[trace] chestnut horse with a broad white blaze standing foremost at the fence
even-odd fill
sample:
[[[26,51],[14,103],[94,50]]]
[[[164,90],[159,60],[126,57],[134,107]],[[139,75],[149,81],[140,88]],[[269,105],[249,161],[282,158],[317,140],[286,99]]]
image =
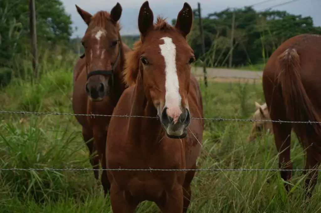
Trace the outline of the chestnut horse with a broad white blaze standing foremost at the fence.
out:
[[[112,117],[108,128],[108,169],[176,169],[178,171],[109,170],[114,213],[134,213],[141,201],[155,202],[162,212],[186,212],[190,184],[200,154],[204,118],[200,86],[191,74],[195,61],[186,36],[193,11],[185,3],[175,27],[157,18],[148,1],[140,8],[141,40],[126,56],[128,84],[114,115],[155,116],[159,119]]]

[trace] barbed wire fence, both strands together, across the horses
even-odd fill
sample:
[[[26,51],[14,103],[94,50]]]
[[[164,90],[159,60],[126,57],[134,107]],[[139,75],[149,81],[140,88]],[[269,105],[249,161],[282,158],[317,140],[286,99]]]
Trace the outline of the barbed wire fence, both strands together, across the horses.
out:
[[[103,117],[136,117],[136,118],[150,118],[150,119],[158,119],[158,117],[152,116],[140,116],[140,115],[105,115],[105,114],[73,114],[73,113],[58,113],[58,112],[25,112],[25,111],[0,111],[0,113],[4,114],[36,114],[36,115],[71,115],[71,116],[91,116],[92,118],[96,116],[103,116]],[[233,119],[233,118],[191,118],[192,120],[216,120],[216,121],[243,121],[243,122],[278,122],[278,123],[305,123],[305,124],[313,124],[313,123],[321,123],[321,122],[313,122],[313,121],[273,121],[273,120],[254,120],[254,119]],[[74,168],[64,168],[64,169],[55,169],[55,168],[0,168],[0,171],[321,171],[321,169],[211,169],[211,168],[204,168],[204,169],[90,169],[90,168],[83,168],[83,169],[74,169]]]

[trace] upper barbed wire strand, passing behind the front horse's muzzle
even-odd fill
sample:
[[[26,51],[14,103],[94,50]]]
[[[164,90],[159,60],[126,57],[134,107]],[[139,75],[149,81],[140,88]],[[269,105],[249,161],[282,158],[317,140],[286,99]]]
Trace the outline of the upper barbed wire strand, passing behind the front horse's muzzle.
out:
[[[158,117],[152,116],[141,116],[141,115],[106,115],[106,114],[72,114],[72,113],[54,113],[54,112],[14,112],[14,111],[0,111],[0,113],[9,113],[9,114],[51,114],[51,115],[73,115],[73,116],[91,116],[95,118],[95,116],[103,116],[103,117],[134,117],[134,118],[152,118],[158,119]],[[238,118],[191,118],[192,120],[216,120],[216,121],[247,121],[247,122],[277,122],[277,123],[321,123],[318,121],[273,121],[273,120],[255,120],[255,119],[238,119]]]

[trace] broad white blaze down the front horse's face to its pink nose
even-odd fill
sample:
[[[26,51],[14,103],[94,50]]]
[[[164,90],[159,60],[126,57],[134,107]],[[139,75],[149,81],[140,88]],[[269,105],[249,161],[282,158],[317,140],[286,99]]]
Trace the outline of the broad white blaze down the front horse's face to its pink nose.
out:
[[[165,60],[165,106],[167,107],[168,116],[173,118],[176,123],[179,115],[182,114],[180,109],[182,98],[179,94],[176,69],[176,46],[169,37],[163,37],[161,39],[164,40],[164,43],[159,46],[160,53]]]

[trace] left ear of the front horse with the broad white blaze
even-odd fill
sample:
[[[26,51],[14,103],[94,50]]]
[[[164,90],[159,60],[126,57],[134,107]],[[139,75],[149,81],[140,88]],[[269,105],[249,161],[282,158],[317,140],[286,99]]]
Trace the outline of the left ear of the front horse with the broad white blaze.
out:
[[[142,39],[146,36],[149,29],[153,27],[154,14],[149,7],[148,1],[145,1],[139,10],[138,15],[138,29],[141,33]]]

